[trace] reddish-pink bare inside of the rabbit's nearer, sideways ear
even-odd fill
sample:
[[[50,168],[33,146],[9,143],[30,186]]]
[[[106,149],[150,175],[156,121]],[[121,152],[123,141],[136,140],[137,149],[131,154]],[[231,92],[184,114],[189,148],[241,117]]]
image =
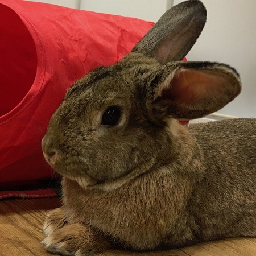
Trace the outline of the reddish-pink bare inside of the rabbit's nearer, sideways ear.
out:
[[[179,104],[196,105],[202,100],[223,95],[225,85],[229,83],[227,80],[217,71],[183,69],[175,73],[161,96]]]

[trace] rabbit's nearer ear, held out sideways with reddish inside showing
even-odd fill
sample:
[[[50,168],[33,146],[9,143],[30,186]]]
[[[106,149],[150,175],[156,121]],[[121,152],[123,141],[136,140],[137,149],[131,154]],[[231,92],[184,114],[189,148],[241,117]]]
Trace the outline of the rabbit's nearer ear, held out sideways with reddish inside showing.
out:
[[[146,89],[152,121],[195,119],[216,112],[241,92],[238,73],[225,64],[169,63]]]

